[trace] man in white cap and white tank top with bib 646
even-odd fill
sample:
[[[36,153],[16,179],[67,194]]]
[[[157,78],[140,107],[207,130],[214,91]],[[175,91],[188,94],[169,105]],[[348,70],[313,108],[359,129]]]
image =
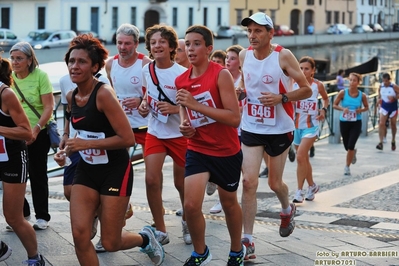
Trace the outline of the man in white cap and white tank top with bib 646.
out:
[[[256,190],[263,152],[269,156],[269,186],[281,202],[280,236],[289,236],[295,227],[295,205],[290,204],[283,170],[294,130],[291,101],[305,99],[312,91],[291,51],[272,44],[273,22],[265,13],[255,13],[242,20],[248,28],[250,47],[240,52],[243,71],[241,89],[247,91],[243,107],[241,142],[244,155],[242,211],[247,247],[246,259],[254,259],[253,224],[257,212]],[[292,91],[293,81],[299,89]]]

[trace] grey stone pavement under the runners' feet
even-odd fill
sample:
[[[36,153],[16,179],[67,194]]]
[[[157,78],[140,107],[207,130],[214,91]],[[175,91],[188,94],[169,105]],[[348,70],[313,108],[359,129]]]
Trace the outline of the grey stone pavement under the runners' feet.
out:
[[[278,233],[278,201],[267,185],[267,178],[260,178],[254,232],[257,259],[245,265],[399,265],[399,151],[391,151],[390,145],[378,151],[377,143],[376,133],[359,139],[358,160],[351,166],[350,177],[343,175],[346,153],[342,144],[328,144],[327,140],[315,144],[316,155],[311,158],[311,163],[320,191],[313,202],[297,204],[296,228],[287,238],[281,238]],[[134,169],[131,197],[134,216],[127,221],[125,229],[138,232],[152,222],[152,217],[145,194],[144,165]],[[284,180],[291,199],[296,190],[295,171],[296,162],[287,160]],[[47,265],[79,265],[73,248],[69,203],[63,197],[62,177],[52,177],[49,183],[52,219],[47,230],[37,231],[40,252]],[[27,194],[31,202],[29,191]],[[171,242],[164,246],[166,257],[162,265],[183,265],[192,246],[184,244],[181,218],[175,215],[180,203],[173,186],[170,159],[164,167],[163,199]],[[223,212],[209,214],[217,200],[217,193],[206,196],[203,212],[207,225],[206,241],[213,255],[209,265],[221,266],[226,265],[229,238]],[[25,251],[16,235],[5,231],[5,226],[1,215],[0,239],[12,247],[13,254],[0,265],[21,265]],[[138,248],[98,256],[102,266],[152,265]]]

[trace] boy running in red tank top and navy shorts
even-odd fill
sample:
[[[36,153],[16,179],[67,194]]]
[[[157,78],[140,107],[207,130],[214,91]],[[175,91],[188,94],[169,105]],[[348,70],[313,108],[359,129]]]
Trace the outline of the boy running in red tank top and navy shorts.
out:
[[[242,152],[237,136],[240,110],[229,71],[209,60],[213,34],[207,27],[186,30],[186,51],[192,67],[176,78],[180,106],[180,132],[188,138],[184,213],[194,251],[184,265],[206,265],[212,255],[205,243],[202,213],[205,187],[219,187],[219,198],[230,236],[227,265],[243,265],[245,246],[240,241],[242,212],[237,200]],[[217,132],[217,134],[215,134]]]

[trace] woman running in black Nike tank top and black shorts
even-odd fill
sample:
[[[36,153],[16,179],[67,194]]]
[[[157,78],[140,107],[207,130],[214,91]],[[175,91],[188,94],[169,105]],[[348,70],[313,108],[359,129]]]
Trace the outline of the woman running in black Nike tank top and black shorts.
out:
[[[98,266],[91,242],[92,224],[99,213],[101,242],[107,251],[141,247],[155,265],[165,257],[152,230],[122,231],[132,193],[133,169],[128,147],[135,144],[130,123],[114,89],[94,75],[105,65],[108,51],[93,36],[75,37],[65,55],[69,75],[77,88],[67,94],[72,127],[78,132],[54,156],[64,165],[79,151],[81,160],[71,189],[70,213],[75,251],[80,265]]]

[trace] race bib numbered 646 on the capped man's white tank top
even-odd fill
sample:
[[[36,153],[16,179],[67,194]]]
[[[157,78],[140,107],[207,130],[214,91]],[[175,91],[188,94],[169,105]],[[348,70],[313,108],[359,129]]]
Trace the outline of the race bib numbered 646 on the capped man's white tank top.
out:
[[[276,124],[276,107],[248,101],[248,122],[260,125],[274,126]]]

